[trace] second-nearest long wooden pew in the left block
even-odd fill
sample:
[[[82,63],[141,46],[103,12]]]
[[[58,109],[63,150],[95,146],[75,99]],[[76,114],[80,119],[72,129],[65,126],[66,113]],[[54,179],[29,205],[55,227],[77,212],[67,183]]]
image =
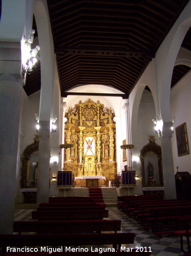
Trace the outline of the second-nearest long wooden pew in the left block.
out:
[[[91,233],[121,231],[121,220],[14,221],[13,232]]]

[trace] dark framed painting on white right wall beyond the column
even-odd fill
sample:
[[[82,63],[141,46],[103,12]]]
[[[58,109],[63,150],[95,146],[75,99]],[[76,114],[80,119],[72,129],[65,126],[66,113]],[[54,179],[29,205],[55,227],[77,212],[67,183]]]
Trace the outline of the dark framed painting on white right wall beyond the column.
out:
[[[176,142],[177,142],[177,150],[178,156],[188,155],[188,137],[186,133],[186,123],[181,124],[175,128],[176,130]]]

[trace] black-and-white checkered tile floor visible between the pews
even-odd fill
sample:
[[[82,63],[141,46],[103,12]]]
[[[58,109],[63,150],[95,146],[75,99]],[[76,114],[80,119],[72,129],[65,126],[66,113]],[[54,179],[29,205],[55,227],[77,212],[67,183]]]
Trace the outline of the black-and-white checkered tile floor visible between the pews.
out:
[[[153,236],[152,232],[143,230],[135,220],[128,218],[125,213],[118,211],[117,206],[108,207],[107,209],[109,210],[108,219],[121,220],[121,232],[133,232],[136,234],[134,244],[123,245],[126,248],[151,247],[151,256],[183,256],[184,253],[180,251],[180,238]],[[15,213],[15,220],[31,220],[32,210],[23,209],[18,211]],[[187,250],[186,238],[184,237],[183,239],[184,249]]]

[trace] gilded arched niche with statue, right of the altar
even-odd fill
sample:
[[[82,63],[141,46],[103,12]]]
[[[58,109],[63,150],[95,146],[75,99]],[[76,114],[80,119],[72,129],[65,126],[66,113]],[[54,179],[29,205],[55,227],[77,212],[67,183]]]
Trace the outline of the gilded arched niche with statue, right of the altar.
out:
[[[149,143],[140,152],[142,187],[163,187],[161,147],[150,136]]]

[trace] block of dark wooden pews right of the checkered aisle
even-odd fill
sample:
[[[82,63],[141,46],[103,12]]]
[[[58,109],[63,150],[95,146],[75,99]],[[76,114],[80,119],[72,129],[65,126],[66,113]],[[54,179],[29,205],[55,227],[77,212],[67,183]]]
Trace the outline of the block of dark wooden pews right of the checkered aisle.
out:
[[[181,251],[184,251],[183,236],[186,236],[188,252],[191,251],[190,201],[165,200],[158,196],[119,196],[118,210],[137,220],[145,230],[151,229],[154,235],[180,236]]]

